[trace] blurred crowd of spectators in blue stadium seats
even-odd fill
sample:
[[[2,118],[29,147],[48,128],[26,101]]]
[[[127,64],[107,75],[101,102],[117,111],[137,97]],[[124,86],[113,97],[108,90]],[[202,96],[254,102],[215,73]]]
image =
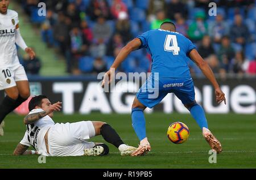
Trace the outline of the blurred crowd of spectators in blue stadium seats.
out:
[[[214,73],[256,74],[256,1],[254,0],[45,0],[47,15],[38,16],[39,0],[19,0],[42,40],[64,55],[67,72],[108,70],[127,42],[164,21],[192,40]],[[208,6],[216,2],[217,15]],[[212,12],[210,10],[210,12]],[[150,71],[146,50],[131,53],[120,70]],[[189,63],[192,75],[202,75]]]

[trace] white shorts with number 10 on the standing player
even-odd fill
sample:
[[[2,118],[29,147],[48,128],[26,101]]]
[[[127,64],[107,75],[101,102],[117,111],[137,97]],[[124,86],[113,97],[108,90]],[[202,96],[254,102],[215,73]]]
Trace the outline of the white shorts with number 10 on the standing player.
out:
[[[14,87],[21,80],[28,80],[22,65],[0,67],[0,90]]]

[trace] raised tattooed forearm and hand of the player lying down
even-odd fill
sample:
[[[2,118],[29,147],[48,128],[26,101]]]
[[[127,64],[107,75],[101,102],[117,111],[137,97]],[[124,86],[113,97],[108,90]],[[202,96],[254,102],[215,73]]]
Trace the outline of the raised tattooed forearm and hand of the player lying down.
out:
[[[32,123],[38,121],[39,119],[45,117],[48,114],[51,114],[55,111],[59,112],[61,109],[61,104],[62,104],[62,102],[56,102],[55,104],[49,105],[49,108],[47,108],[43,112],[32,113],[32,114],[26,115],[26,117],[24,117],[24,119],[23,119],[24,124],[25,125],[32,124]]]

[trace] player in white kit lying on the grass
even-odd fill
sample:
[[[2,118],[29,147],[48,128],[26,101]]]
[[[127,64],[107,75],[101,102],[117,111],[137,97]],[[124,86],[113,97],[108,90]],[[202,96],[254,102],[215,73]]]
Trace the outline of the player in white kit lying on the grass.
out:
[[[137,148],[123,143],[115,130],[105,122],[80,121],[76,123],[53,122],[53,112],[61,109],[61,102],[51,104],[46,96],[32,97],[28,104],[30,113],[24,118],[27,130],[14,155],[39,153],[44,156],[102,156],[109,153],[103,143],[86,142],[97,135],[117,147],[122,156],[131,155]],[[35,151],[27,151],[33,146]]]

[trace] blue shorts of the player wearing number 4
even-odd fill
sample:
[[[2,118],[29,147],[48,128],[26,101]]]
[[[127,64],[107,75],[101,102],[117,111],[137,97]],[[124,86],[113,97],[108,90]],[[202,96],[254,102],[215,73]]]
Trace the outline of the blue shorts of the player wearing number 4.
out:
[[[191,104],[195,101],[192,78],[152,78],[150,76],[139,89],[136,97],[144,106],[153,108],[168,93],[174,93],[184,105]]]

